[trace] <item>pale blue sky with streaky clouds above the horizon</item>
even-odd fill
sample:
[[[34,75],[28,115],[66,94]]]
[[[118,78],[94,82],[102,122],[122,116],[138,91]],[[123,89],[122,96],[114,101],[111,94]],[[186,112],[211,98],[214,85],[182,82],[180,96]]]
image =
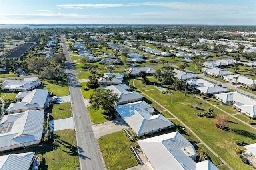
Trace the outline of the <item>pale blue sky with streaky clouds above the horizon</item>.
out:
[[[256,0],[0,0],[0,24],[256,25]]]

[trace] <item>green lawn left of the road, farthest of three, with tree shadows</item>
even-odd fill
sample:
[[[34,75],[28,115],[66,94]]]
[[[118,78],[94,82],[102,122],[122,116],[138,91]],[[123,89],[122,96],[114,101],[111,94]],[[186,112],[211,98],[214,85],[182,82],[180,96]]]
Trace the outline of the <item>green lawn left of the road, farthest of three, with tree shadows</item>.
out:
[[[69,95],[68,80],[66,76],[62,76],[63,80],[43,80],[44,85],[41,85],[39,89],[49,89],[49,92],[54,93],[56,96]]]

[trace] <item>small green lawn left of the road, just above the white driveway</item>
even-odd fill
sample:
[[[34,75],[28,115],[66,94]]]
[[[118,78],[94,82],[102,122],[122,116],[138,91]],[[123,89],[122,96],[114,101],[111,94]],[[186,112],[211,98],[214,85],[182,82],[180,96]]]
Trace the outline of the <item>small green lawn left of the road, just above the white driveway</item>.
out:
[[[71,103],[58,103],[52,104],[49,108],[45,109],[45,112],[50,113],[51,120],[64,119],[71,116]]]

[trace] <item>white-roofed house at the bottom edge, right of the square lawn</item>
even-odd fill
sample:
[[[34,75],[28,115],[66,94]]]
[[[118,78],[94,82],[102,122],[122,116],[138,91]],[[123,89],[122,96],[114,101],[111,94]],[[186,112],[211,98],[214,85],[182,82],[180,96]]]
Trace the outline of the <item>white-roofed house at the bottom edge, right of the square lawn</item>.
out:
[[[218,170],[204,160],[196,163],[196,150],[179,132],[137,141],[155,170]]]

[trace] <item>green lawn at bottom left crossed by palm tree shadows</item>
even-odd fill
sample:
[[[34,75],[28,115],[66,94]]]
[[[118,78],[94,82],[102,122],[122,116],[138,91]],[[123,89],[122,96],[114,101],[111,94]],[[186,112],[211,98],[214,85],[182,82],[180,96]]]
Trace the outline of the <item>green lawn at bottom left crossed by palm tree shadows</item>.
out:
[[[54,131],[53,134],[55,136],[53,142],[26,150],[12,151],[10,154],[36,152],[35,154],[43,156],[43,158],[39,156],[42,170],[75,170],[79,160],[74,130],[59,130]]]

